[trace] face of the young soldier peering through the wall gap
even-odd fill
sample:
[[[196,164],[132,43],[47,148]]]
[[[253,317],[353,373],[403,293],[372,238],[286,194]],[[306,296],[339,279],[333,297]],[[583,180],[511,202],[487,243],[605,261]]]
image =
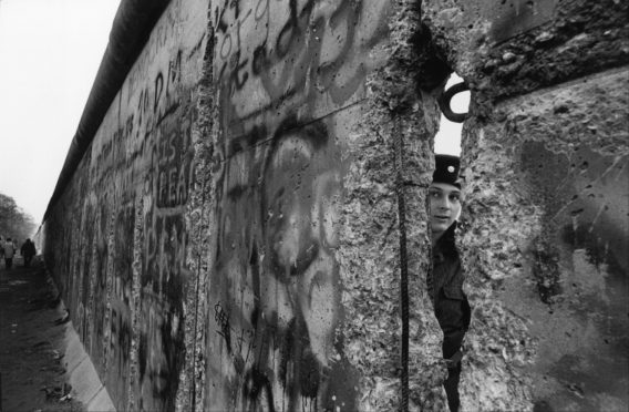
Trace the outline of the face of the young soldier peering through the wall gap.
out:
[[[429,198],[432,234],[439,237],[461,214],[461,189],[447,183],[433,183]]]

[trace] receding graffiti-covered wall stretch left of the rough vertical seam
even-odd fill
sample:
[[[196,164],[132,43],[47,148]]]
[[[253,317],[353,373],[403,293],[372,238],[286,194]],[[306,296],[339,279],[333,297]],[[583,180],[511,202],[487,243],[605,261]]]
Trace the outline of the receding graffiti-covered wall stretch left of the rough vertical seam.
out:
[[[117,410],[190,402],[185,215],[207,8],[171,2],[45,222],[47,264]]]

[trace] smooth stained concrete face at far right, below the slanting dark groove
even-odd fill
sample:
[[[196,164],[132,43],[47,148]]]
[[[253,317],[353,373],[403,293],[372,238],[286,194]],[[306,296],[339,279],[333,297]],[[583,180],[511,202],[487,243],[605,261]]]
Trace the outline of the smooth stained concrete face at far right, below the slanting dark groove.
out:
[[[606,72],[499,106],[520,189],[544,205],[504,301],[532,321],[534,400],[553,409],[629,405],[628,86]]]

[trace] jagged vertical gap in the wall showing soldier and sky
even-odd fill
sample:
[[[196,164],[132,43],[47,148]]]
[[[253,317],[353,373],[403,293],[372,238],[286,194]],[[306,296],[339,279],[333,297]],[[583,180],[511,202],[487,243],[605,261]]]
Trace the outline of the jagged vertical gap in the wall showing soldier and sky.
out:
[[[446,82],[445,91],[462,83],[455,73]],[[455,89],[454,89],[455,90]],[[454,92],[454,90],[452,92]],[[443,101],[442,101],[443,102]],[[467,113],[470,92],[454,94],[450,111],[454,114]],[[448,112],[447,105],[442,110]],[[448,114],[451,119],[464,116]],[[435,174],[429,188],[429,227],[433,246],[431,275],[427,289],[434,313],[443,331],[443,358],[448,360],[448,375],[444,383],[450,410],[458,410],[458,381],[461,374],[462,342],[470,327],[471,307],[463,292],[465,278],[456,247],[456,222],[463,208],[461,197],[460,163],[462,124],[441,115],[440,130],[434,137]]]

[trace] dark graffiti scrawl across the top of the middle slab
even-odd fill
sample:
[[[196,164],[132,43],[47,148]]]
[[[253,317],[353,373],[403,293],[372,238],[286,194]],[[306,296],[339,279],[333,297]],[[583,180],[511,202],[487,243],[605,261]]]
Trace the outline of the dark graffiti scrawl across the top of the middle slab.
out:
[[[385,37],[386,2],[228,1],[214,10],[224,124],[347,104]],[[324,113],[322,113],[324,114]]]

